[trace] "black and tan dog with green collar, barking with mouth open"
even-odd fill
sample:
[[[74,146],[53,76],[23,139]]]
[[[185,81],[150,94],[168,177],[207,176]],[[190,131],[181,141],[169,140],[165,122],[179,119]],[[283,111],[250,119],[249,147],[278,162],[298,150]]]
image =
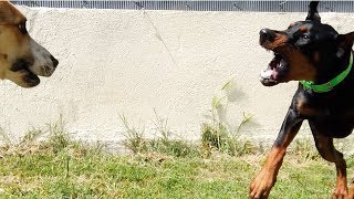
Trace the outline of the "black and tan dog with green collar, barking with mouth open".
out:
[[[339,34],[321,23],[317,4],[311,2],[306,20],[292,23],[284,31],[260,31],[260,44],[274,52],[274,59],[261,73],[262,84],[300,83],[264,166],[250,186],[250,198],[268,198],[287,147],[305,119],[319,153],[336,166],[332,197],[354,198],[353,185],[347,188],[343,154],[333,146],[333,138],[346,137],[354,127],[354,32]]]

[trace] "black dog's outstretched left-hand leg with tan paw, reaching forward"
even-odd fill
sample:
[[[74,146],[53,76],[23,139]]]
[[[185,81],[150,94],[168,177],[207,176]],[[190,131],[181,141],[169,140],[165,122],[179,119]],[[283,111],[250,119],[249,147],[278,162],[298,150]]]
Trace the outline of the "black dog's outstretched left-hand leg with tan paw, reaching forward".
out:
[[[262,170],[251,184],[249,198],[268,198],[277,180],[277,175],[285,156],[287,147],[295,137],[302,122],[303,119],[290,107]]]

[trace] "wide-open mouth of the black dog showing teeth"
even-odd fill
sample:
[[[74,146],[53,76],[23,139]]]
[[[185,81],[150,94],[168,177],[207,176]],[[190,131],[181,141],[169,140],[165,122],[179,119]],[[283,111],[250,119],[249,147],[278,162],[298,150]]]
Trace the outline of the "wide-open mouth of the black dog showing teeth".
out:
[[[261,72],[260,81],[264,86],[273,86],[283,82],[288,72],[288,61],[282,54],[274,52],[273,60],[269,63],[267,70]]]

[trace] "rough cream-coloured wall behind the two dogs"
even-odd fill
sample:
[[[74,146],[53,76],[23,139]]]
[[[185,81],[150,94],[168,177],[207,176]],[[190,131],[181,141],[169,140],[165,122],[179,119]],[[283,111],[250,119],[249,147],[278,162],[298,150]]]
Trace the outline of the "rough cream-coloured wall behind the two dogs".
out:
[[[212,97],[227,95],[222,119],[237,126],[250,113],[242,134],[273,139],[296,87],[260,84],[272,54],[259,46],[258,32],[285,29],[305,13],[20,10],[32,38],[60,65],[35,88],[0,83],[0,124],[14,137],[60,114],[76,138],[122,139],[119,114],[154,134],[155,109],[175,135],[195,139]],[[322,20],[341,33],[353,31],[353,14],[323,13]],[[235,86],[221,92],[229,81]]]

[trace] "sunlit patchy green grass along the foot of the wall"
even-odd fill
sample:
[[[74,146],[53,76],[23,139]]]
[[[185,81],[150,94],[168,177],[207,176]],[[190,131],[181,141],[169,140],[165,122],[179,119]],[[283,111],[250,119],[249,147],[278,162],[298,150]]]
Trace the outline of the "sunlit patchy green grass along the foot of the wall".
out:
[[[20,144],[0,148],[0,198],[247,198],[264,160],[259,153],[216,149],[204,156],[204,147],[169,136],[142,138],[144,150],[112,155],[71,140],[62,125],[32,129]],[[271,198],[329,198],[334,166],[317,158],[311,143],[294,145]],[[347,163],[353,167],[354,158]]]

